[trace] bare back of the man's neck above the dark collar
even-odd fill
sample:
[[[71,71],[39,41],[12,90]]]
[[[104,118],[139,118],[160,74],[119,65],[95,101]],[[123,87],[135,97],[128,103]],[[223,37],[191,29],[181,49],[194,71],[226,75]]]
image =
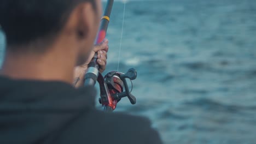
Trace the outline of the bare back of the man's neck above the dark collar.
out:
[[[43,55],[7,52],[1,75],[12,79],[62,81],[72,84],[75,61],[71,59],[74,58],[65,49]]]

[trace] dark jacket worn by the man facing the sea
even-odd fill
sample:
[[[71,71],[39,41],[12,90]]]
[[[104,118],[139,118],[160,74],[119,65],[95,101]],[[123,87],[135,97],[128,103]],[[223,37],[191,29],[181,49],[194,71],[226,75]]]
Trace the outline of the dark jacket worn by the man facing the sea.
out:
[[[95,109],[93,87],[0,77],[0,143],[161,143],[147,118]]]

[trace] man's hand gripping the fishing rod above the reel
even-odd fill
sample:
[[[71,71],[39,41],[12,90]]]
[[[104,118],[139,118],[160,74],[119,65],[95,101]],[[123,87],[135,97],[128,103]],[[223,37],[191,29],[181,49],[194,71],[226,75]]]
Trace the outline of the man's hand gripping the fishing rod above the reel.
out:
[[[74,83],[73,85],[75,87],[82,87],[84,83],[84,75],[86,73],[86,70],[88,69],[88,64],[91,62],[91,59],[94,57],[95,53],[98,53],[98,59],[97,62],[100,66],[100,73],[103,73],[103,71],[106,69],[107,65],[107,52],[108,52],[108,40],[104,39],[102,43],[97,44],[92,49],[92,52],[90,53],[90,56],[88,58],[88,61],[85,62],[85,64],[80,65],[78,67],[75,67],[74,69]]]

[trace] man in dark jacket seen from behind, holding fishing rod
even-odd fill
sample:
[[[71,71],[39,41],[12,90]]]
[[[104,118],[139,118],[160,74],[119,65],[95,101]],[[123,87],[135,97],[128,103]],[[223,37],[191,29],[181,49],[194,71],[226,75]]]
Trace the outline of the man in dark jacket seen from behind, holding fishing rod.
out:
[[[72,86],[95,52],[106,66],[108,41],[92,49],[100,16],[100,0],[0,1],[1,144],[161,143],[148,119],[98,111],[93,87]]]

